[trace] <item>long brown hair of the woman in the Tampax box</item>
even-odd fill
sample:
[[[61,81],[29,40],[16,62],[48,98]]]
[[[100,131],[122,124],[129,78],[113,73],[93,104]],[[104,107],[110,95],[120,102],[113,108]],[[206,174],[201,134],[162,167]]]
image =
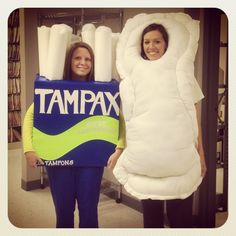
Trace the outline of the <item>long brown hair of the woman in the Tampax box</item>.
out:
[[[89,74],[87,75],[87,79],[86,81],[94,81],[94,54],[93,54],[93,49],[84,42],[78,42],[78,43],[74,43],[69,52],[67,53],[66,56],[66,63],[65,63],[65,73],[64,73],[64,80],[72,80],[72,70],[71,70],[71,60],[72,60],[72,56],[74,51],[77,48],[86,48],[91,56],[91,71],[89,72]]]

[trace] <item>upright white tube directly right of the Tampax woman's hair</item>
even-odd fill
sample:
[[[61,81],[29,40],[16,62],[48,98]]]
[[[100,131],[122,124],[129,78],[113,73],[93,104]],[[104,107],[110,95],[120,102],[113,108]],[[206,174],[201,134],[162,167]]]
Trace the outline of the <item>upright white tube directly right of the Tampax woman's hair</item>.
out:
[[[95,81],[111,81],[112,71],[112,31],[99,26],[95,31]]]

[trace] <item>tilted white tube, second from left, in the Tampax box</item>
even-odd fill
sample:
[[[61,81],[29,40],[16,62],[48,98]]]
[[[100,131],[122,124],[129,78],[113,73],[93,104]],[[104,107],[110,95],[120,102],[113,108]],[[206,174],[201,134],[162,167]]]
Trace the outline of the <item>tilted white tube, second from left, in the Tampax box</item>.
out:
[[[71,41],[72,28],[67,25],[53,25],[50,32],[46,77],[62,80],[66,52]]]

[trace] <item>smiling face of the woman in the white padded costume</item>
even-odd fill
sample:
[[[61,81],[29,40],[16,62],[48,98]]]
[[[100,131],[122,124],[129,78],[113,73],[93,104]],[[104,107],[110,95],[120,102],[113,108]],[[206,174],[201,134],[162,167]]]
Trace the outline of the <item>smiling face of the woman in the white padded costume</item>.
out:
[[[160,59],[166,51],[166,42],[159,30],[147,32],[143,37],[143,50],[151,61]]]

